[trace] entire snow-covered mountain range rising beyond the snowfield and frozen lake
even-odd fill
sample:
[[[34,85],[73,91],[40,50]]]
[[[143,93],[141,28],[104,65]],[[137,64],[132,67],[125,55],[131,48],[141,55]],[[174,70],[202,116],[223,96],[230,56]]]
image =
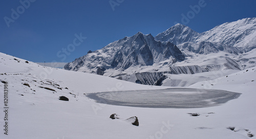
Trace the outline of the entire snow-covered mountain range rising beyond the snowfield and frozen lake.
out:
[[[255,66],[255,38],[256,18],[225,23],[203,33],[177,24],[156,37],[141,32],[124,37],[75,59],[65,69],[156,85],[159,79],[169,79],[162,77],[165,74]]]

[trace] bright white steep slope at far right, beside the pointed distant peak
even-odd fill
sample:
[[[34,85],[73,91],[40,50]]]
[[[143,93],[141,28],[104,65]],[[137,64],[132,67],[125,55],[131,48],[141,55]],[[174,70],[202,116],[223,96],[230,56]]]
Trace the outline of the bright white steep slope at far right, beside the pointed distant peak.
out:
[[[220,42],[232,47],[242,48],[248,52],[256,48],[256,18],[244,18],[226,22],[200,34],[196,42]]]

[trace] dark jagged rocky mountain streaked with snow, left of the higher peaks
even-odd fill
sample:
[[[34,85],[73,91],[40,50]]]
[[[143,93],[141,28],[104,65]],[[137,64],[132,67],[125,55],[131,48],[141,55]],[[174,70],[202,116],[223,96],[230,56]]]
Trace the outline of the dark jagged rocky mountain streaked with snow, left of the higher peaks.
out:
[[[130,67],[152,66],[162,61],[172,64],[183,60],[185,56],[173,43],[156,41],[151,34],[139,32],[75,59],[65,65],[65,69],[103,75],[107,69],[125,71]]]

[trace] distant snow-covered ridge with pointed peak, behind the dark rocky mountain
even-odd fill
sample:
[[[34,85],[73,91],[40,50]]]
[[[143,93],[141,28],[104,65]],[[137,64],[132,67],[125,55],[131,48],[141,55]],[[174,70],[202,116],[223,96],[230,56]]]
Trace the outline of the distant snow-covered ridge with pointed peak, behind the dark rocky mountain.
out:
[[[176,45],[184,42],[219,43],[216,44],[217,47],[219,45],[235,47],[248,52],[256,48],[256,18],[226,22],[203,33],[197,33],[184,25],[177,24],[163,33],[159,33],[155,38],[160,41],[170,41]],[[193,45],[183,44],[183,47],[185,46],[193,47]]]

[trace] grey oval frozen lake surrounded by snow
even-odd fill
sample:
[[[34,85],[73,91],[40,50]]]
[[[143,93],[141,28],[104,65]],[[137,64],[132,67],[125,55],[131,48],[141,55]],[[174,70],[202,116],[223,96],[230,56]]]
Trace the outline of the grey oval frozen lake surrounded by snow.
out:
[[[168,88],[98,92],[87,97],[98,103],[150,108],[202,108],[217,106],[237,99],[241,94],[225,90]]]

